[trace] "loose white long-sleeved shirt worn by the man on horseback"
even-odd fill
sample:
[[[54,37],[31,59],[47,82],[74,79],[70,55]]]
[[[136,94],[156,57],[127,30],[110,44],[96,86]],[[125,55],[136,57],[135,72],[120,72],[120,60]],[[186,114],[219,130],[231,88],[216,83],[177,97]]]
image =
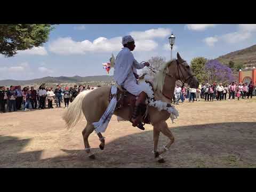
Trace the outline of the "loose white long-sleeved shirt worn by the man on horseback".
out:
[[[115,61],[114,79],[118,85],[123,85],[124,82],[136,81],[133,73],[137,73],[136,69],[145,67],[143,63],[138,63],[130,49],[123,47],[118,53]]]

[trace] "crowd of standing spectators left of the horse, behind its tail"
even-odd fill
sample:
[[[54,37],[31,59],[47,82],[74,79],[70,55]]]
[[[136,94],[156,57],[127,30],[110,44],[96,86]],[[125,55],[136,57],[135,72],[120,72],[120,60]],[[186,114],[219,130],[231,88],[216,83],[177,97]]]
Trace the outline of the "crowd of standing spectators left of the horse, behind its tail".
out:
[[[61,107],[61,103],[64,102],[66,108],[69,102],[72,102],[79,93],[95,88],[97,87],[91,87],[89,85],[75,85],[74,87],[66,86],[62,88],[61,85],[57,85],[57,87],[53,89],[53,87],[46,87],[45,84],[43,84],[39,86],[38,90],[35,90],[33,86],[26,86],[23,87],[23,89],[21,89],[21,86],[10,86],[10,88],[1,86],[0,110],[5,113],[6,107],[9,112],[45,109],[46,104],[47,108],[53,108],[53,102],[56,103],[56,107]]]

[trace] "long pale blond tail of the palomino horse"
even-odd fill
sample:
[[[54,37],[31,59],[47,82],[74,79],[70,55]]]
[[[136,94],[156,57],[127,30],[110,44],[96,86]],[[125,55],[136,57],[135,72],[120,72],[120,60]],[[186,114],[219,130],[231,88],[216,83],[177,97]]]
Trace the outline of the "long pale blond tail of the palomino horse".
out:
[[[68,109],[63,114],[62,118],[65,120],[68,129],[75,126],[83,118],[83,100],[87,93],[91,91],[83,91],[77,95],[73,102],[70,103]]]

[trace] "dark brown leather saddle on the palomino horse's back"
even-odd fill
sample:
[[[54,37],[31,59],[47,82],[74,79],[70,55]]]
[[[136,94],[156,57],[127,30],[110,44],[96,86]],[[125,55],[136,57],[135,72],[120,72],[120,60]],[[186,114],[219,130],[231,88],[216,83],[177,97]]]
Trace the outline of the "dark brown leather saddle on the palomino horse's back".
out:
[[[135,107],[135,102],[137,100],[137,96],[129,93],[128,91],[126,91],[123,87],[117,85],[117,94],[116,94],[116,98],[117,98],[117,104],[116,104],[116,108],[115,111],[117,110],[122,110],[122,108],[124,107],[129,107],[129,119],[132,117],[132,112],[133,109]],[[111,91],[109,93],[109,102],[111,101],[111,99],[114,97],[114,94],[111,94]],[[144,124],[150,124],[150,117],[149,114],[147,113],[147,108],[148,106],[145,105],[141,105],[140,106],[140,116],[142,116],[142,122]]]

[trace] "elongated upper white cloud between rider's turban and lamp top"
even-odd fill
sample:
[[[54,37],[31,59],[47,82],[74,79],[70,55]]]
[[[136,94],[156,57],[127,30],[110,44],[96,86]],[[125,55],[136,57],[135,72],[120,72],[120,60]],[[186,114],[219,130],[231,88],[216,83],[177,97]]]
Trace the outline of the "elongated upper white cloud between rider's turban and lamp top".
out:
[[[146,31],[132,31],[130,35],[135,39],[153,39],[153,38],[164,38],[171,35],[171,29],[158,28],[149,29]]]

